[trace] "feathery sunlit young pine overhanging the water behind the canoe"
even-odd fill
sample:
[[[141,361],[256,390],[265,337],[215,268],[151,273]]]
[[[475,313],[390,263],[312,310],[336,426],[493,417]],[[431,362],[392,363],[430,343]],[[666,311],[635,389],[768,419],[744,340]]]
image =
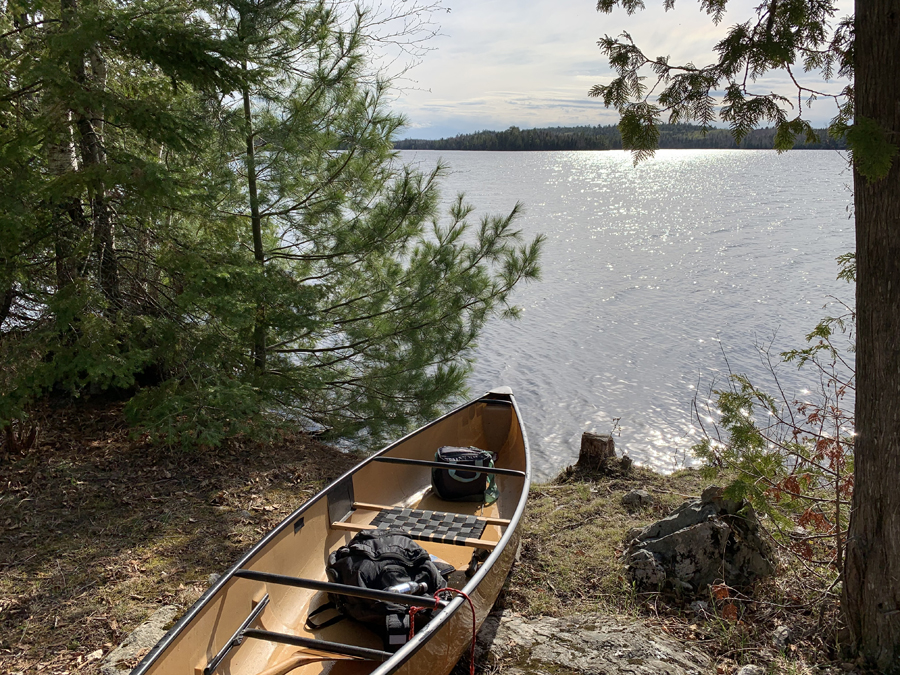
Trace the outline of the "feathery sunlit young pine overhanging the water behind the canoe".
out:
[[[433,416],[464,390],[485,320],[536,276],[539,241],[520,242],[516,212],[469,232],[462,201],[439,224],[443,169],[396,161],[401,120],[365,70],[363,14],[265,0],[216,16],[248,45],[249,77],[209,150],[221,193],[200,218],[220,239],[202,255],[217,262],[185,280],[206,353],[170,362],[131,409],[175,436],[198,421],[179,411],[202,411],[201,442],[272,413],[374,437]]]

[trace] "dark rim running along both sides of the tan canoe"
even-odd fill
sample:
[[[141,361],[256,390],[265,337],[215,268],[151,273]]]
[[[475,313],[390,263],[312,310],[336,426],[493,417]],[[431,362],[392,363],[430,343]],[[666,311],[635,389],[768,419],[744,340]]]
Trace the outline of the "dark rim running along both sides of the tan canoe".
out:
[[[268,544],[282,531],[284,531],[288,527],[292,527],[293,524],[300,518],[305,511],[307,511],[313,504],[317,503],[320,499],[327,498],[327,493],[332,490],[336,485],[339,485],[342,481],[348,480],[355,474],[357,471],[360,471],[363,467],[367,466],[371,462],[378,461],[378,457],[390,452],[394,447],[399,445],[400,443],[406,442],[415,436],[423,433],[425,430],[439,424],[445,419],[456,415],[457,413],[465,410],[466,408],[477,405],[479,403],[491,403],[491,404],[506,404],[513,408],[516,414],[516,420],[518,422],[519,430],[522,434],[522,443],[524,445],[525,451],[525,471],[522,476],[515,476],[517,478],[522,478],[524,480],[524,485],[522,486],[522,493],[519,497],[519,503],[516,505],[516,510],[514,511],[512,517],[509,519],[510,523],[505,528],[503,535],[500,537],[500,540],[497,542],[496,547],[487,557],[487,559],[481,564],[478,571],[469,579],[466,585],[462,588],[462,591],[466,594],[471,594],[474,589],[478,587],[481,581],[487,576],[488,572],[493,568],[494,564],[499,560],[501,552],[506,548],[510,539],[516,533],[516,530],[519,525],[519,521],[522,518],[522,514],[525,511],[525,504],[528,500],[528,491],[531,485],[531,456],[530,449],[528,444],[528,436],[525,432],[525,427],[522,424],[522,416],[519,411],[519,406],[516,403],[515,397],[512,392],[488,392],[484,396],[481,396],[475,400],[464,403],[453,410],[441,415],[435,420],[432,420],[428,424],[419,427],[408,433],[406,436],[399,438],[393,443],[385,446],[381,450],[376,453],[370,455],[359,464],[352,467],[350,470],[346,471],[344,474],[339,476],[337,479],[326,485],[322,488],[318,493],[313,495],[311,498],[306,500],[303,504],[301,504],[297,509],[295,509],[291,514],[289,514],[284,520],[281,521],[278,525],[276,525],[273,529],[269,530],[262,539],[260,539],[253,547],[251,547],[241,558],[232,565],[221,577],[219,577],[216,582],[210,586],[203,595],[184,613],[184,615],[175,623],[172,628],[170,628],[165,635],[159,640],[159,642],[154,645],[150,651],[144,656],[143,659],[135,666],[135,668],[131,671],[130,675],[145,675],[147,670],[154,664],[158,656],[161,652],[163,652],[169,644],[175,639],[177,635],[184,630],[187,625],[193,621],[196,615],[200,612],[200,610],[206,605],[207,602],[219,592],[228,582],[230,582],[233,578],[240,578],[239,575],[236,575],[238,571],[240,571],[244,565],[249,562],[254,556],[257,555],[262,549],[264,549]],[[519,472],[517,472],[519,473]],[[370,675],[388,675],[389,673],[395,672],[399,669],[409,658],[411,658],[416,652],[418,652],[430,639],[431,635],[436,632],[439,628],[441,628],[455,613],[456,611],[463,605],[465,602],[464,598],[460,595],[455,596],[452,600],[450,600],[444,607],[441,609],[431,621],[429,621],[422,630],[420,630],[412,640],[407,642],[403,647],[401,647],[397,652],[393,654],[393,657],[389,659],[387,662],[381,664],[378,668],[372,671]]]

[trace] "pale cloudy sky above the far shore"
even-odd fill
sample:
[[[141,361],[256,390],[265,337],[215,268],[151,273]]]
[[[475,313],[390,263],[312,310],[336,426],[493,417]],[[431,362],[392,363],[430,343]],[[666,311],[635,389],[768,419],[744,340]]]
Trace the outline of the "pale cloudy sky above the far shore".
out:
[[[408,122],[399,137],[444,138],[513,125],[615,124],[616,112],[587,96],[591,86],[612,79],[597,47],[600,37],[627,31],[651,56],[707,65],[728,26],[753,16],[758,2],[731,0],[716,26],[696,0],[679,0],[669,12],[662,0],[646,0],[647,8],[632,16],[618,8],[599,13],[592,0],[444,0],[445,9],[434,14],[440,34],[426,43],[430,51],[395,82],[392,108]],[[808,81],[835,93],[843,88],[814,76]],[[757,85],[763,93],[788,95],[796,105],[786,75]],[[834,113],[834,104],[823,100],[810,119],[826,126]]]

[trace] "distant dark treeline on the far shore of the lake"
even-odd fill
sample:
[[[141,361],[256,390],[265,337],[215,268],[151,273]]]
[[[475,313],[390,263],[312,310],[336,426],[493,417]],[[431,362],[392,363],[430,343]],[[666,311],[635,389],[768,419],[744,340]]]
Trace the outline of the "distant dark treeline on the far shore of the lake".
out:
[[[706,134],[691,124],[663,124],[659,128],[659,147],[667,149],[685,148],[743,148],[750,150],[771,150],[774,147],[775,129],[756,129],[737,145],[728,129],[711,129]],[[828,150],[843,149],[843,140],[836,141],[827,130],[817,129],[818,143],[801,143],[797,149]],[[550,127],[546,129],[519,129],[510,127],[506,131],[478,131],[474,134],[460,134],[453,138],[436,141],[405,139],[394,141],[398,150],[621,150],[622,137],[615,125],[583,127]]]

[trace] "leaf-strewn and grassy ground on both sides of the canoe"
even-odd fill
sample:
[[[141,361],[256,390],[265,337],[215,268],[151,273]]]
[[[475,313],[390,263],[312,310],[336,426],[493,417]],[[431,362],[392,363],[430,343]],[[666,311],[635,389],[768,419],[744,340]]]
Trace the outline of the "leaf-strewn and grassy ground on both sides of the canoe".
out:
[[[89,657],[106,654],[160,605],[189,607],[211,574],[359,461],[301,434],[192,453],[156,448],[132,439],[109,404],[47,405],[33,422],[32,447],[0,446],[2,673],[97,673],[99,660]],[[632,512],[621,496],[636,487],[653,503]],[[744,595],[706,596],[705,616],[690,609],[695,598],[629,588],[618,557],[625,533],[702,487],[693,471],[640,468],[569,472],[534,486],[521,560],[499,606],[524,616],[638,619],[704,649],[719,673],[757,663],[800,675],[831,663],[836,604],[817,602],[788,562]],[[795,636],[784,649],[772,645],[779,625]]]

